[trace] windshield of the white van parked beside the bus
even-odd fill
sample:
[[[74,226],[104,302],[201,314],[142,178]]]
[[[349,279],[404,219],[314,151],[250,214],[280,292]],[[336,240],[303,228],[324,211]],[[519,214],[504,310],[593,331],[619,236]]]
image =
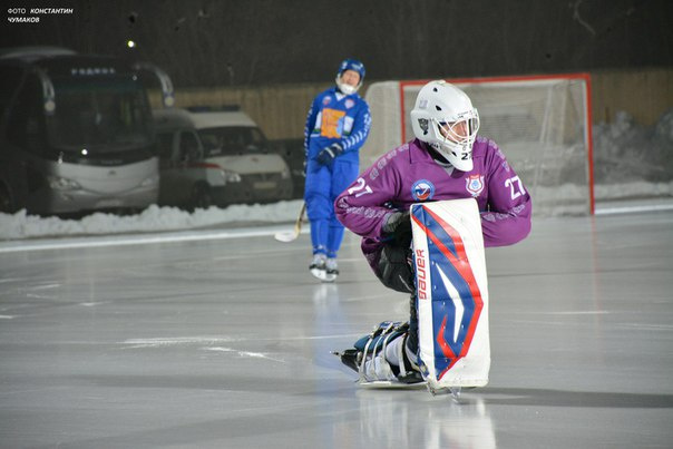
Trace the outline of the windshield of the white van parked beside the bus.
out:
[[[226,126],[198,130],[206,157],[262,153],[266,140],[260,129],[250,126]]]

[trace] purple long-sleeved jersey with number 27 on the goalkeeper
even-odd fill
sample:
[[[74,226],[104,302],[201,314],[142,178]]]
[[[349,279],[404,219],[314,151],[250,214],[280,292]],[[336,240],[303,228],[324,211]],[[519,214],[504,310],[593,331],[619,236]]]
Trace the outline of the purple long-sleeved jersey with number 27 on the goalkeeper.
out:
[[[364,170],[339,197],[336,217],[362,240],[375,266],[388,216],[413,203],[475,197],[481,213],[486,246],[511,245],[530,232],[530,196],[498,146],[477,137],[470,172],[447,169],[418,139],[397,147]]]

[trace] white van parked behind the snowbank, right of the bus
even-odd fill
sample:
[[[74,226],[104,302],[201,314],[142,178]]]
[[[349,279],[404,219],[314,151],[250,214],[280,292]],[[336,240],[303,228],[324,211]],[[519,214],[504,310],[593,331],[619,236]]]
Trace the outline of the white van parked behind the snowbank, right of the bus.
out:
[[[292,198],[285,160],[257,125],[231,107],[154,111],[159,205],[195,207]]]

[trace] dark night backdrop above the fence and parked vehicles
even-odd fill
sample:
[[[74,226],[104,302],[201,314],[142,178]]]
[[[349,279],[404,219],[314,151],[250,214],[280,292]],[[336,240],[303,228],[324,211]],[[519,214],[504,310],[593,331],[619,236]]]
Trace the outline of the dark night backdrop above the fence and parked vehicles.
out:
[[[45,6],[75,11],[3,18],[2,47],[127,55],[176,87],[329,82],[344,57],[369,80],[673,66],[670,0],[21,0],[3,13]]]

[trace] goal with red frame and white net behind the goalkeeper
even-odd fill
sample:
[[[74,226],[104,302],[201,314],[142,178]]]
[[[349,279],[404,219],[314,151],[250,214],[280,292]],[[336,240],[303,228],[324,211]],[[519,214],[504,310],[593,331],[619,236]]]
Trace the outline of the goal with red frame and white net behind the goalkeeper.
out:
[[[587,74],[447,79],[479,111],[479,135],[495,140],[524,180],[538,216],[594,213],[591,84]],[[409,113],[426,80],[369,86],[372,129],[361,164],[413,138]]]

